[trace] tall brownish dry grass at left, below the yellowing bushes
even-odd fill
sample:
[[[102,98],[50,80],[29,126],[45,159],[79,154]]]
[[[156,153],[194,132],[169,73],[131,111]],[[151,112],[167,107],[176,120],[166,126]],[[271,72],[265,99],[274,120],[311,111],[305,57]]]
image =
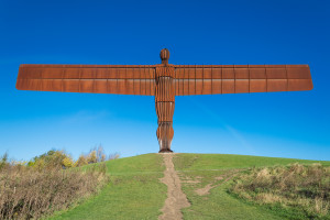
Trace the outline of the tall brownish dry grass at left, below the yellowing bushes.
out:
[[[37,169],[0,162],[0,219],[38,219],[95,194],[107,183],[106,165]]]

